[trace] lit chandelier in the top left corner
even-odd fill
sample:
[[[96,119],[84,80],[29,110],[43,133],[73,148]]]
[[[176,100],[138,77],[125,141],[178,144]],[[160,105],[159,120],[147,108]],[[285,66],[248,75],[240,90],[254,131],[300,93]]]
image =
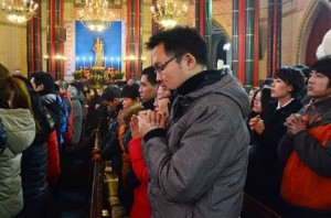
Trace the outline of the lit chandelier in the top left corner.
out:
[[[38,4],[32,0],[1,0],[1,13],[11,22],[22,23],[36,14]]]

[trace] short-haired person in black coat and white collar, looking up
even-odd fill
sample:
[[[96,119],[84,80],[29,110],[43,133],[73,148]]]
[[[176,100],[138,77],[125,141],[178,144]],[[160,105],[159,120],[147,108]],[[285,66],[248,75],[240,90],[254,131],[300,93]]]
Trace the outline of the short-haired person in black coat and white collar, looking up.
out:
[[[303,76],[295,67],[281,67],[276,72],[270,95],[276,102],[269,103],[259,117],[249,120],[256,135],[256,196],[280,215],[286,212],[286,204],[280,198],[279,188],[284,166],[278,159],[278,143],[287,129],[284,122],[291,113],[298,112],[302,103],[293,96],[303,87]]]

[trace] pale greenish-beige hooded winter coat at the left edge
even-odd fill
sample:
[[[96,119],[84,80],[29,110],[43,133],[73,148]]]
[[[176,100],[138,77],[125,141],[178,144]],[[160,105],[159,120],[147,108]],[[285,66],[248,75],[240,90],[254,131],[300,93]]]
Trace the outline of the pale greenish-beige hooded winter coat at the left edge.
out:
[[[21,156],[34,140],[35,122],[28,109],[0,109],[0,119],[8,134],[0,154],[0,217],[12,218],[23,208]]]

